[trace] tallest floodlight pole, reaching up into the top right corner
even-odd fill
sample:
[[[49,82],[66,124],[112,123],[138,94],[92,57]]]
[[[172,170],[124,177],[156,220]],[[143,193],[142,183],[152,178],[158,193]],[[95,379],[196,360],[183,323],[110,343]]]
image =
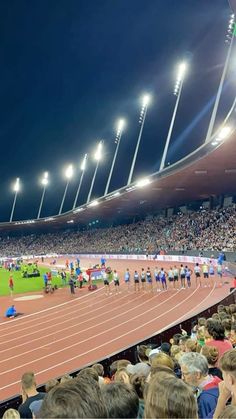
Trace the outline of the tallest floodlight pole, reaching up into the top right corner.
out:
[[[216,115],[217,115],[217,112],[218,112],[219,103],[220,103],[220,99],[221,99],[221,94],[222,94],[223,86],[224,86],[224,82],[225,82],[225,77],[226,77],[228,67],[229,67],[229,62],[230,62],[231,53],[232,53],[232,49],[233,49],[234,38],[236,36],[236,24],[235,24],[234,15],[230,16],[228,30],[230,30],[230,32],[227,35],[226,42],[227,42],[227,44],[229,44],[229,49],[228,49],[228,52],[227,52],[227,55],[226,55],[226,58],[225,58],[224,68],[223,68],[220,83],[219,83],[219,86],[218,86],[216,99],[215,99],[215,103],[214,103],[214,106],[213,106],[211,119],[210,119],[210,122],[209,122],[208,130],[207,130],[207,134],[206,134],[206,138],[205,138],[205,143],[209,143],[209,141],[211,141],[211,137],[212,137],[214,126],[215,126]]]

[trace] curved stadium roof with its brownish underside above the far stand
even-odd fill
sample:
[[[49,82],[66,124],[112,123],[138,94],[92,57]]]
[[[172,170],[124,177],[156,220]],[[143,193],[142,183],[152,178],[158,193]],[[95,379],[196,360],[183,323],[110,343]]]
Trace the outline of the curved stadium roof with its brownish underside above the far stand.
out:
[[[235,110],[234,110],[235,113]],[[145,182],[146,180],[146,182]],[[90,205],[82,205],[61,216],[40,220],[24,220],[0,223],[1,231],[32,231],[66,227],[70,223],[88,224],[99,221],[128,220],[157,212],[159,209],[185,205],[191,201],[208,199],[210,196],[236,193],[236,132],[216,143],[210,141],[177,163],[154,173],[141,185],[134,182],[107,196],[98,198]]]

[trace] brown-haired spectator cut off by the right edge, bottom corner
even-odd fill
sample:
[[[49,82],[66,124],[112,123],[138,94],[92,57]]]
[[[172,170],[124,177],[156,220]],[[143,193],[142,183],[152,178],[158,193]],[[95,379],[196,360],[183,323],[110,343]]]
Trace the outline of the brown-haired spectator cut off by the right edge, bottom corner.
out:
[[[219,398],[214,413],[214,419],[220,417],[227,403],[232,398],[232,405],[236,400],[236,351],[225,352],[220,359],[220,369],[223,373],[223,379],[219,384]]]

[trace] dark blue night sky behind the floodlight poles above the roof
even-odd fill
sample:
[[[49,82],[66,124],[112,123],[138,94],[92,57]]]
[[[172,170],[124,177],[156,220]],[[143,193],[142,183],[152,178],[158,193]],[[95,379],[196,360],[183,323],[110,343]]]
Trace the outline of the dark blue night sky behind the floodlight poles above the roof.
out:
[[[2,0],[0,3],[0,220],[10,189],[22,181],[15,219],[35,218],[50,172],[43,216],[59,210],[63,169],[78,171],[64,210],[72,207],[84,153],[104,140],[93,197],[103,194],[115,151],[116,121],[127,120],[111,189],[127,182],[139,130],[140,98],[152,95],[134,177],[159,168],[175,96],[176,66],[189,70],[167,161],[199,146],[227,54],[228,0]],[[234,54],[236,56],[236,54]],[[235,93],[231,62],[219,110]],[[79,203],[86,200],[95,163],[89,162]]]

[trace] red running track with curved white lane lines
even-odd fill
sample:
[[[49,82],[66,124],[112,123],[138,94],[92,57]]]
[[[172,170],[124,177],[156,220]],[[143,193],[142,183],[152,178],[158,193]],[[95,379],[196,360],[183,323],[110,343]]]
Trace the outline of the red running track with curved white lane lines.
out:
[[[131,274],[147,264],[151,268],[156,265],[150,261],[128,262]],[[112,261],[118,271],[124,271],[126,265],[124,261]],[[133,289],[128,293],[122,284],[121,290],[121,294],[106,296],[102,286],[93,293],[84,288],[73,297],[68,289],[61,289],[40,300],[17,302],[25,316],[0,323],[1,399],[19,393],[25,371],[34,371],[37,383],[43,384],[161,332],[229,293],[228,286],[194,285],[161,293],[135,293]],[[2,297],[3,305],[9,304],[9,298]]]

